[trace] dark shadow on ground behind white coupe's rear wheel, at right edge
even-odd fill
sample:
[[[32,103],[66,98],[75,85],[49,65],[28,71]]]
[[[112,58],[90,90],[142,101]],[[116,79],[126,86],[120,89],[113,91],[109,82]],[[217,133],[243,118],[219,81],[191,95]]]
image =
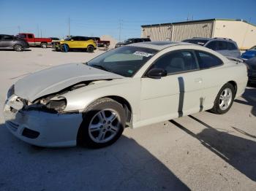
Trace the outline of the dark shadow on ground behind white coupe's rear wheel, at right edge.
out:
[[[244,94],[241,95],[242,98],[244,98],[246,101],[242,100],[235,100],[238,104],[245,104],[252,106],[251,113],[256,116],[256,85],[250,85],[249,88],[246,88],[244,91]]]

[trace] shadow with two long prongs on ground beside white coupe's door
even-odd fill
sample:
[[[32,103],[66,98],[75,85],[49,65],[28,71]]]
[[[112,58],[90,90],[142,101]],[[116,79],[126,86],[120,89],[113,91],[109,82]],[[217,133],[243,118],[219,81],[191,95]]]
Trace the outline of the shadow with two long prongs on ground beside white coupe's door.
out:
[[[184,127],[175,120],[170,120],[173,125],[184,130],[190,136],[201,142],[204,147],[214,152],[214,154],[221,157],[227,163],[236,168],[242,174],[247,176],[252,181],[256,181],[256,142],[244,139],[239,136],[234,136],[225,131],[219,131],[216,128],[211,127],[196,117],[189,115],[192,120],[199,122],[206,128],[200,133],[193,133],[188,127]],[[238,128],[234,128],[239,130]],[[241,133],[241,130],[240,130]],[[255,139],[255,136],[249,135],[246,132],[242,132],[245,136]]]

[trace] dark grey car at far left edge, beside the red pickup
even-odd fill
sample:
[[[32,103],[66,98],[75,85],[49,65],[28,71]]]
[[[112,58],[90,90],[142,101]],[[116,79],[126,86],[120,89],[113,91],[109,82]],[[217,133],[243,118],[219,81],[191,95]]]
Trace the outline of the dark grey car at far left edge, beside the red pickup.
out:
[[[29,48],[29,44],[26,40],[8,34],[0,34],[0,49],[22,51],[26,48]]]

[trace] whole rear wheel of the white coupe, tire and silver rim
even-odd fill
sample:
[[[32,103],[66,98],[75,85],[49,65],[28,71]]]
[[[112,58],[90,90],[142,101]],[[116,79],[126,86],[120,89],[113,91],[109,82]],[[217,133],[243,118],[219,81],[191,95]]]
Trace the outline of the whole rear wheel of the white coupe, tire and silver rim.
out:
[[[230,110],[235,98],[235,88],[230,83],[223,85],[214,101],[211,112],[225,114]]]

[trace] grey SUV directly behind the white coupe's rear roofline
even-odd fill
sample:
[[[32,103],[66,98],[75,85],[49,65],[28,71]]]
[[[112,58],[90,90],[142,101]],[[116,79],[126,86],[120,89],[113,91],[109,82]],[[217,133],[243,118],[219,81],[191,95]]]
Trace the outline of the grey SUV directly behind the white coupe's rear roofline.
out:
[[[208,47],[211,50],[215,50],[222,55],[230,56],[234,58],[241,58],[241,52],[238,49],[236,42],[226,38],[192,38],[184,40],[183,42],[189,42],[192,44],[198,44],[203,47]]]

